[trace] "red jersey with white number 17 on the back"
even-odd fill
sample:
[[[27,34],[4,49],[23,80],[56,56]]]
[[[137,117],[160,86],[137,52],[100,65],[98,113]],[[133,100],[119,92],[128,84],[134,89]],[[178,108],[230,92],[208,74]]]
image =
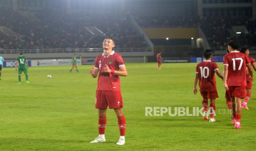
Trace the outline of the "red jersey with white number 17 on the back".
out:
[[[246,86],[246,64],[250,64],[246,54],[231,51],[224,56],[224,65],[228,65],[227,85]]]

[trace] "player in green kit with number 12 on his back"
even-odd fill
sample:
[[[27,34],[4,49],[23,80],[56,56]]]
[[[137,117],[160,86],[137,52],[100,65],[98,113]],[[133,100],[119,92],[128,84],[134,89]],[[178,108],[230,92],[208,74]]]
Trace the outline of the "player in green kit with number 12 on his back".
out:
[[[19,68],[18,68],[19,67]],[[23,56],[23,53],[20,52],[20,56],[16,59],[16,71],[18,71],[18,78],[19,78],[19,84],[21,83],[21,73],[24,72],[26,75],[26,83],[29,82],[29,75],[28,75],[28,69],[29,69],[29,63],[26,60],[26,57]]]

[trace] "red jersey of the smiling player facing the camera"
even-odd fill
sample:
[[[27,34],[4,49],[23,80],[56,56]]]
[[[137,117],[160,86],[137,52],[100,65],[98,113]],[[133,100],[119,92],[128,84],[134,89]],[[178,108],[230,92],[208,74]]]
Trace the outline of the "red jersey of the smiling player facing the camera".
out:
[[[119,71],[119,67],[124,66],[123,57],[115,51],[108,56],[104,54],[99,55],[95,59],[94,68],[99,69],[99,78],[97,90],[104,91],[120,91],[120,79],[118,75],[114,73],[104,72],[104,67],[110,67],[110,69],[115,69]]]

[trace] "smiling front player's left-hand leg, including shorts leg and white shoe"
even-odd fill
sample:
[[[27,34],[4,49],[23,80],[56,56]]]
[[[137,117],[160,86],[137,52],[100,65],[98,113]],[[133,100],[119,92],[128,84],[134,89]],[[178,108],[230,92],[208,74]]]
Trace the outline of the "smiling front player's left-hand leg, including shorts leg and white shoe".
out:
[[[99,109],[99,123],[98,123],[98,131],[99,136],[95,138],[94,141],[91,141],[90,143],[100,143],[100,142],[106,142],[105,139],[105,127],[107,124],[107,102],[104,96],[104,92],[102,91],[96,91],[96,100],[95,100],[95,108]]]

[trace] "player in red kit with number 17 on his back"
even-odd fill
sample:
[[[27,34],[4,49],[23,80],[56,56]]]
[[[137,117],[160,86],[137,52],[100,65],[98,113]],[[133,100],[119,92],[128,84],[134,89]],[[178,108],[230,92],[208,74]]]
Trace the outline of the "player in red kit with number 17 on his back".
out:
[[[246,97],[246,67],[253,80],[252,67],[250,66],[249,58],[246,54],[237,51],[238,42],[230,40],[227,43],[229,54],[224,56],[224,87],[228,91],[236,110],[233,111],[232,123],[235,124],[235,129],[241,129],[240,120],[242,114],[242,98]]]

